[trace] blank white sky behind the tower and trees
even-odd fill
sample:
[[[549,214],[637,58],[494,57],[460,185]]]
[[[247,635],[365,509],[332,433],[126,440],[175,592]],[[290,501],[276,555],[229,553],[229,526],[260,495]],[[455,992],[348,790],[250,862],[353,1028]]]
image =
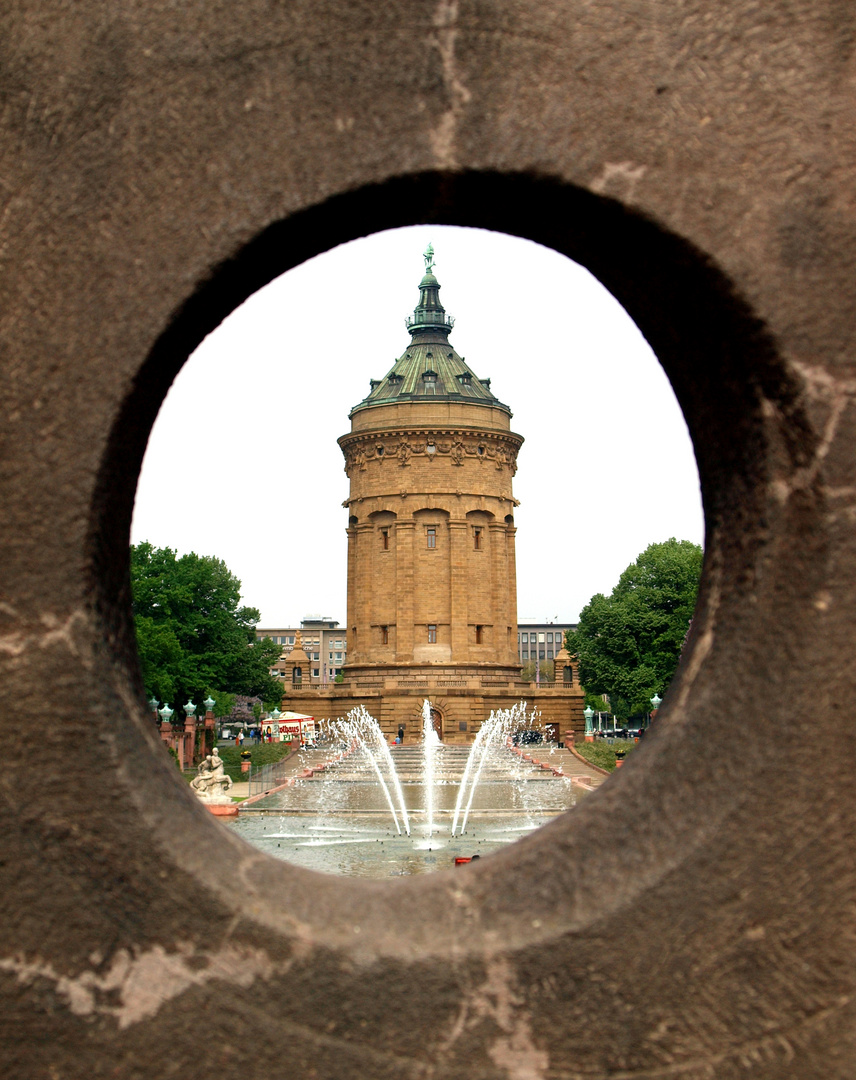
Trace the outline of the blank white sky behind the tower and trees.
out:
[[[348,414],[409,343],[435,248],[451,342],[526,442],[514,494],[518,618],[574,621],[649,543],[704,535],[687,427],[624,309],[562,255],[481,229],[411,227],[334,248],[234,311],[152,430],[132,540],[217,555],[262,626],[344,625]]]

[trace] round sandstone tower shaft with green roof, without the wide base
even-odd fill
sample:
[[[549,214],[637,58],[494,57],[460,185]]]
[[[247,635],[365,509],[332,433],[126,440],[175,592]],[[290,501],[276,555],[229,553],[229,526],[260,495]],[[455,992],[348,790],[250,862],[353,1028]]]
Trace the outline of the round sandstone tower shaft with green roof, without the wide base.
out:
[[[349,671],[439,677],[444,665],[460,678],[475,665],[507,678],[519,666],[512,476],[522,438],[490,380],[449,343],[433,254],[410,345],[339,440],[351,481]]]

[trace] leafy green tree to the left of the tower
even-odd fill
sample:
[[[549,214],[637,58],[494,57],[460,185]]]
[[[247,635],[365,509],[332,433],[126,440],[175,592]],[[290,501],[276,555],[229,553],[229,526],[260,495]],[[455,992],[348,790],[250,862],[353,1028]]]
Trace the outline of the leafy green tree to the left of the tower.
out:
[[[259,612],[241,606],[241,582],[221,559],[132,544],[131,586],[147,693],[174,708],[218,692],[282,700],[270,674],[280,648],[256,640]]]

